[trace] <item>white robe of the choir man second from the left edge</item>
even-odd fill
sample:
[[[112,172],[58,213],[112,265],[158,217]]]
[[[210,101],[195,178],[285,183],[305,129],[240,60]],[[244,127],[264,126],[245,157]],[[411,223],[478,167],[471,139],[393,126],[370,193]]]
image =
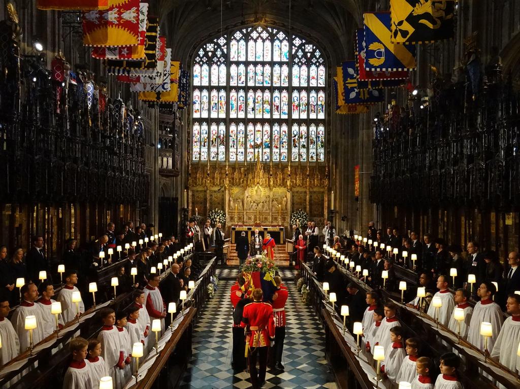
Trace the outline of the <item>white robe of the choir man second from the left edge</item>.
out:
[[[45,318],[42,306],[37,303],[22,301],[11,317],[12,326],[18,333],[20,341],[20,353],[29,347],[29,330],[25,329],[25,317],[36,316],[36,328],[33,329],[33,346],[45,338]]]

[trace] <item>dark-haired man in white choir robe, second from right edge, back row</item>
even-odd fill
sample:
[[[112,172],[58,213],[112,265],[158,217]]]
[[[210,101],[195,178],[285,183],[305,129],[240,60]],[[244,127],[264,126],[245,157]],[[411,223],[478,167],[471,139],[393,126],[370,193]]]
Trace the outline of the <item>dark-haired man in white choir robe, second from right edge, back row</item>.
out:
[[[483,321],[491,323],[492,336],[487,340],[487,350],[493,350],[495,341],[498,338],[504,316],[500,310],[500,306],[493,301],[493,296],[497,288],[490,282],[480,284],[477,290],[477,296],[480,301],[475,304],[473,308],[473,315],[471,316],[470,328],[467,332],[467,341],[477,347],[479,350],[484,350],[484,337],[480,334],[480,324]]]

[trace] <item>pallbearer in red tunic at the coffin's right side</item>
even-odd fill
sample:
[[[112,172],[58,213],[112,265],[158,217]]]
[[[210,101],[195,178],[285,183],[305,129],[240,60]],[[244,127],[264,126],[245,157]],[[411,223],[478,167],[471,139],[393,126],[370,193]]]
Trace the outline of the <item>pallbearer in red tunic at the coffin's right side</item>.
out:
[[[287,288],[282,285],[280,276],[275,277],[276,292],[272,296],[272,312],[275,316],[275,345],[269,350],[269,366],[283,370],[282,352],[285,339],[285,303],[289,297]]]

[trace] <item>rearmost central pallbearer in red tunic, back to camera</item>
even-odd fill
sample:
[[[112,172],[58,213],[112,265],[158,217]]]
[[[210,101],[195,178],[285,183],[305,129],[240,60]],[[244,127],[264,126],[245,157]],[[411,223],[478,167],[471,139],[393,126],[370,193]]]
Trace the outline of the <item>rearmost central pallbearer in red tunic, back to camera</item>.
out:
[[[253,290],[254,302],[244,307],[242,322],[246,325],[245,353],[248,356],[251,384],[259,389],[265,381],[267,371],[267,351],[275,340],[275,320],[272,306],[262,302],[262,289]],[[256,369],[256,361],[260,368]]]

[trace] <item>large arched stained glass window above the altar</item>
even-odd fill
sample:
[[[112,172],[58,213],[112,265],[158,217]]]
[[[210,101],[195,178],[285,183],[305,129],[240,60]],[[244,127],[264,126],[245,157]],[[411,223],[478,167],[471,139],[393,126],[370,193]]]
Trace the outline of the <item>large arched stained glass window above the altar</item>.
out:
[[[194,161],[324,161],[327,61],[306,38],[231,30],[198,48],[192,75]]]

